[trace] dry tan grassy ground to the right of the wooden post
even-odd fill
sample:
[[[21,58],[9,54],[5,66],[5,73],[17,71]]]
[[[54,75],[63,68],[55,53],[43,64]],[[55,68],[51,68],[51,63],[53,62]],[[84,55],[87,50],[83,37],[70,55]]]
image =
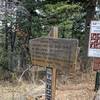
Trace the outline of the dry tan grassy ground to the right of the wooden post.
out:
[[[95,73],[77,73],[58,88],[56,100],[93,100]]]

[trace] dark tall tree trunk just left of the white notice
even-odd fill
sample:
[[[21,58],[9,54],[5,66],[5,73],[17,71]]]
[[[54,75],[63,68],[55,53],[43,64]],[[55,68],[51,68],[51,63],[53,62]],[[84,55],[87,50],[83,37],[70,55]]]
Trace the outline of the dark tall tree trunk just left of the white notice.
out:
[[[83,66],[82,70],[86,71],[89,65],[89,58],[88,54],[88,41],[89,41],[89,32],[90,32],[90,22],[94,19],[95,15],[95,7],[96,7],[97,0],[89,0],[87,4],[85,4],[86,9],[86,24],[85,24],[85,37],[84,37],[84,45],[83,45],[83,52],[82,52],[82,61]]]

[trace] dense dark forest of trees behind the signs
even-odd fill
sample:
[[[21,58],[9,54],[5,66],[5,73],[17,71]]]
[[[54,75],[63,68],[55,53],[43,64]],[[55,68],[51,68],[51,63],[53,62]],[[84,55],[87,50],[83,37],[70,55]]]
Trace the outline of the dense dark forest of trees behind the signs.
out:
[[[47,36],[53,26],[59,38],[79,40],[81,71],[87,71],[90,22],[99,20],[99,7],[99,0],[1,0],[0,79],[31,66],[29,40]]]

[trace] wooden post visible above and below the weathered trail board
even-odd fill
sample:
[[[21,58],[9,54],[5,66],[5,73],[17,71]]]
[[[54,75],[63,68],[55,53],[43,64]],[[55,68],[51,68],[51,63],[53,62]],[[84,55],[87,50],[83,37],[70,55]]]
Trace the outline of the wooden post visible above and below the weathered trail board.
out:
[[[52,38],[58,38],[58,27],[54,26],[51,28],[51,31],[49,32],[48,37],[52,37]],[[46,67],[46,71],[51,69],[51,81],[49,80],[49,82],[51,82],[51,89],[50,88],[50,84],[48,85],[48,79],[47,79],[47,83],[46,83],[46,99],[45,100],[55,100],[55,93],[56,93],[56,66],[49,66]],[[48,72],[47,72],[47,77],[48,77]],[[49,95],[48,95],[49,94]],[[50,96],[51,95],[51,96]]]

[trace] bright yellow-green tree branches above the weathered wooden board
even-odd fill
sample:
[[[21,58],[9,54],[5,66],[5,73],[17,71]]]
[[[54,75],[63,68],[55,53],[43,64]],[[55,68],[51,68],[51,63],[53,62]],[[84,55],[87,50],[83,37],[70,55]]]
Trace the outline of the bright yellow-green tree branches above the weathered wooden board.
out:
[[[82,7],[79,4],[68,4],[66,2],[44,6],[48,25],[57,25],[59,27],[59,36],[62,38],[72,37],[73,24],[81,15],[81,10]]]

